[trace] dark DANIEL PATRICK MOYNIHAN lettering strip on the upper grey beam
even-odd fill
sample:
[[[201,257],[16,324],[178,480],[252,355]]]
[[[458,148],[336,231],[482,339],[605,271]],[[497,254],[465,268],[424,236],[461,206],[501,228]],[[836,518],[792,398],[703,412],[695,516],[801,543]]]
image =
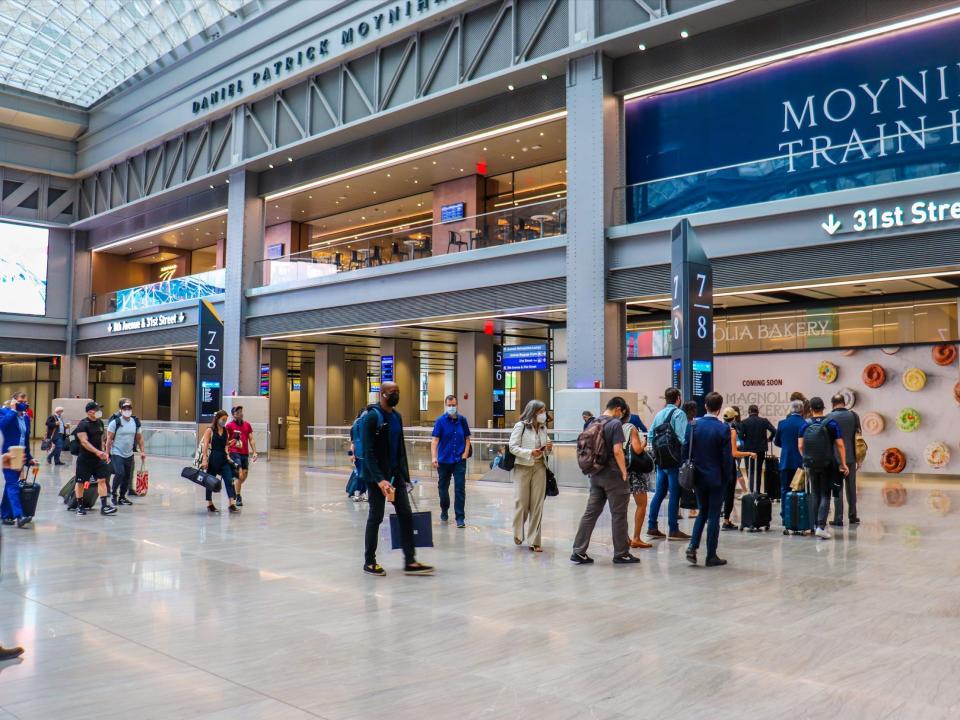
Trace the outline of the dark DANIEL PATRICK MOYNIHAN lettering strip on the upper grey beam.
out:
[[[247,93],[262,90],[280,80],[326,62],[364,41],[410,25],[434,12],[445,9],[448,0],[402,0],[386,5],[359,20],[324,33],[310,42],[278,55],[263,65],[258,65],[246,75],[238,76],[213,88],[191,103],[194,115],[212,110],[240,98]]]

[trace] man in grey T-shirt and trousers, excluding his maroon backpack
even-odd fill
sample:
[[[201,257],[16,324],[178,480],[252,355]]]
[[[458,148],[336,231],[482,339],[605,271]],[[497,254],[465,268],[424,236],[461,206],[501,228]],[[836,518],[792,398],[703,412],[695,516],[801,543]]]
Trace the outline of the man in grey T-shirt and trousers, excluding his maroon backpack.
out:
[[[630,509],[630,479],[623,452],[623,444],[626,442],[623,436],[624,416],[630,416],[629,408],[626,401],[618,396],[610,398],[606,410],[597,420],[601,423],[600,432],[603,433],[603,443],[607,448],[607,463],[590,475],[587,508],[580,519],[580,528],[573,541],[573,554],[570,556],[570,562],[577,565],[589,565],[593,562],[593,558],[587,555],[587,548],[605,504],[610,505],[614,564],[640,562],[640,558],[630,554],[630,530],[627,520],[627,511]]]

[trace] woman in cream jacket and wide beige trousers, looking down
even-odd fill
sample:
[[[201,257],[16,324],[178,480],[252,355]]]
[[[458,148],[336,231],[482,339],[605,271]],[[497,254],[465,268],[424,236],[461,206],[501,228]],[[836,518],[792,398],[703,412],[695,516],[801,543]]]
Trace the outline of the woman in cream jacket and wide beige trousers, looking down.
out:
[[[530,549],[543,552],[540,523],[543,499],[547,491],[547,456],[553,443],[547,437],[547,408],[541,400],[531,400],[510,433],[513,466],[513,541],[529,540]]]

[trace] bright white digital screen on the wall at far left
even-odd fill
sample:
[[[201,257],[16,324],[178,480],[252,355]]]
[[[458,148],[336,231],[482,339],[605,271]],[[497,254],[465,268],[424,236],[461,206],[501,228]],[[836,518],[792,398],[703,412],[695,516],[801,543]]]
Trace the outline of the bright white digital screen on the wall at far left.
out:
[[[0,223],[0,313],[47,312],[47,230]]]

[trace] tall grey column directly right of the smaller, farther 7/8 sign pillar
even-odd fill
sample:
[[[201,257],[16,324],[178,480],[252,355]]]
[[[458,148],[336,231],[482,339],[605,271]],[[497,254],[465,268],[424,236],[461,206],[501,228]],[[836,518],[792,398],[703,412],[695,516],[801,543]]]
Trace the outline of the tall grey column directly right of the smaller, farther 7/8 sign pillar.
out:
[[[256,395],[260,386],[260,342],[246,337],[244,321],[244,291],[260,284],[256,281],[256,261],[263,257],[263,199],[256,192],[256,174],[246,170],[230,173],[223,305],[224,395]]]

